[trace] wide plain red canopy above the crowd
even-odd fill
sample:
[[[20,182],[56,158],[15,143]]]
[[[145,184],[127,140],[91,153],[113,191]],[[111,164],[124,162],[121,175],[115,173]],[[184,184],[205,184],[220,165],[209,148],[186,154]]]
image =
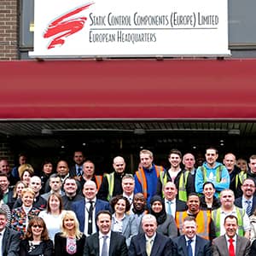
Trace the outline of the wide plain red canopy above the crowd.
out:
[[[1,61],[0,119],[255,119],[256,60]]]

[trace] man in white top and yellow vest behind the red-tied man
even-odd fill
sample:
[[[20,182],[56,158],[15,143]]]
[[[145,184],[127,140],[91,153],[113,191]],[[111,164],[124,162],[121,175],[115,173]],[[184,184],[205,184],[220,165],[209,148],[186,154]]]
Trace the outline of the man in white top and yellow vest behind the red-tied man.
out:
[[[235,195],[231,189],[224,189],[220,192],[221,207],[212,211],[212,220],[215,224],[216,236],[222,236],[224,230],[224,218],[228,215],[234,215],[238,219],[238,235],[250,237],[250,220],[244,209],[234,205]]]

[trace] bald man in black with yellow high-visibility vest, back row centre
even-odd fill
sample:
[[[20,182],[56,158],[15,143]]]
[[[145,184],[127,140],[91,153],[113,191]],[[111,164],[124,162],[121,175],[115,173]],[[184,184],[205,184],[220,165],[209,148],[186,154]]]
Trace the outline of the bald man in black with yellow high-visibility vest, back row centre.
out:
[[[123,194],[122,177],[125,175],[125,166],[123,157],[116,156],[113,159],[114,172],[104,174],[97,198],[110,201],[113,196]]]

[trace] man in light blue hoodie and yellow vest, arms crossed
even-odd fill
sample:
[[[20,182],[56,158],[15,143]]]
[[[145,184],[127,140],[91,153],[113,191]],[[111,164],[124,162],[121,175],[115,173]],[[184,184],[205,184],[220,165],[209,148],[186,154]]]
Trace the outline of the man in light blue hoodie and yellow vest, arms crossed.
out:
[[[203,184],[210,181],[216,189],[215,196],[218,196],[220,191],[230,188],[230,174],[223,164],[217,162],[216,148],[207,148],[205,156],[206,162],[199,166],[195,173],[195,191],[202,193]]]

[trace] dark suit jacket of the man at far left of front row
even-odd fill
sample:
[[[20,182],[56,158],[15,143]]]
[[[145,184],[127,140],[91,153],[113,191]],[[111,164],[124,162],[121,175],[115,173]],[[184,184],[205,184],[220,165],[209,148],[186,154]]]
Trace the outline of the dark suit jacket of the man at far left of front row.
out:
[[[18,256],[20,250],[20,233],[5,228],[3,233],[3,256]]]

